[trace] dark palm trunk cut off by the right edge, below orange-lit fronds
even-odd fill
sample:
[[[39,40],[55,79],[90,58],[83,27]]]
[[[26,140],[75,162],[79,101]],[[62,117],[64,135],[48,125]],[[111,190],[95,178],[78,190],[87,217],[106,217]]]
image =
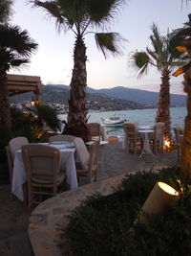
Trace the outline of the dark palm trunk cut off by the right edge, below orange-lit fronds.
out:
[[[182,175],[191,175],[191,74],[184,74],[184,91],[187,93],[187,116],[184,121],[184,134],[181,145]]]

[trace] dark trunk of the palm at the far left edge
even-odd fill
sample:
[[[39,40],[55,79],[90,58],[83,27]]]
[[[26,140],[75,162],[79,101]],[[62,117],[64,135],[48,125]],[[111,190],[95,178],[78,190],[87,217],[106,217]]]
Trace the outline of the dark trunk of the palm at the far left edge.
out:
[[[3,130],[11,131],[11,106],[6,72],[0,74],[0,124]]]

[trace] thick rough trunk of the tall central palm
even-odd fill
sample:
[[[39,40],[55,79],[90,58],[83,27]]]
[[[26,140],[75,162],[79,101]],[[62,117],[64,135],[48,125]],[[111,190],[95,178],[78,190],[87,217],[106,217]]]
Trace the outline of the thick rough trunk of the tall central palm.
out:
[[[67,133],[86,137],[87,128],[87,101],[86,101],[86,46],[81,35],[78,35],[74,44],[74,69],[71,80],[69,99],[68,131]],[[80,134],[78,134],[80,133]],[[87,140],[87,138],[84,138]]]

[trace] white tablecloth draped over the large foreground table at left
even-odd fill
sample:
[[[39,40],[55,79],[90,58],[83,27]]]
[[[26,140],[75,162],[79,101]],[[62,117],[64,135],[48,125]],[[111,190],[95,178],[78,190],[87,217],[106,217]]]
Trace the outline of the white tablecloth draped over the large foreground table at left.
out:
[[[49,145],[44,144],[44,145]],[[51,145],[60,150],[60,167],[65,168],[67,175],[67,183],[71,189],[78,187],[76,169],[74,163],[75,149],[66,148],[64,145]],[[27,175],[24,168],[23,158],[21,151],[16,151],[14,155],[13,172],[12,172],[12,187],[11,191],[17,198],[24,200],[23,184],[27,181]]]

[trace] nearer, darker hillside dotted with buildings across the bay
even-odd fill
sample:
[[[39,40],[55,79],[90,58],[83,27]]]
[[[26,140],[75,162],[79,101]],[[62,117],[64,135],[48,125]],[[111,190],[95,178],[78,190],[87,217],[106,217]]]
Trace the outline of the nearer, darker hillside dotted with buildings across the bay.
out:
[[[45,85],[43,87],[42,100],[43,103],[68,105],[69,86],[66,85]],[[23,103],[32,100],[32,93],[25,93],[11,97],[12,103]],[[87,104],[89,109],[94,110],[122,110],[122,109],[141,109],[145,105],[117,99],[101,94],[87,93]]]

